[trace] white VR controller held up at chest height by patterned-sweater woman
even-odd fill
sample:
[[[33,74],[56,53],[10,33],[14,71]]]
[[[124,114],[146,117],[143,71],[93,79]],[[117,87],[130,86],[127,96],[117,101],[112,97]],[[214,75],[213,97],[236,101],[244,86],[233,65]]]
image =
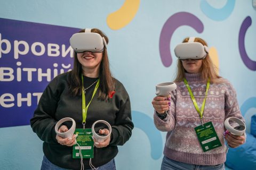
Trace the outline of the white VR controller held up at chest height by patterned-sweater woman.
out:
[[[168,96],[170,91],[176,90],[177,85],[174,82],[165,82],[156,85],[157,96]]]

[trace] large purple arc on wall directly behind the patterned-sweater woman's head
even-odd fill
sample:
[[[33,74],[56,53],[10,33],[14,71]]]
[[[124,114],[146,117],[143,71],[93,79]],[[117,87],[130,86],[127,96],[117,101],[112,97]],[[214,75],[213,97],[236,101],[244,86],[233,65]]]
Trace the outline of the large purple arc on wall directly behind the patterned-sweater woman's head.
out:
[[[164,23],[159,39],[160,57],[165,67],[169,67],[172,64],[170,44],[173,32],[182,25],[188,25],[194,28],[198,33],[204,30],[203,23],[191,13],[179,12],[170,16]]]

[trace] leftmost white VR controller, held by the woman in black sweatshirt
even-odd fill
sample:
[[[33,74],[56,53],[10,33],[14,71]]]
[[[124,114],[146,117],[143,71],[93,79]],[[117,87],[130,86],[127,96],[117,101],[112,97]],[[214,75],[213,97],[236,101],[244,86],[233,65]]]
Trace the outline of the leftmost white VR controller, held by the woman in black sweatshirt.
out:
[[[71,128],[66,131],[66,132],[58,132],[58,129],[59,129],[59,126],[66,122],[66,121],[72,121],[72,126]],[[72,138],[74,132],[75,132],[75,129],[76,129],[76,122],[73,118],[70,118],[70,117],[65,117],[65,118],[62,118],[61,120],[59,120],[59,122],[55,125],[55,132],[62,138]]]

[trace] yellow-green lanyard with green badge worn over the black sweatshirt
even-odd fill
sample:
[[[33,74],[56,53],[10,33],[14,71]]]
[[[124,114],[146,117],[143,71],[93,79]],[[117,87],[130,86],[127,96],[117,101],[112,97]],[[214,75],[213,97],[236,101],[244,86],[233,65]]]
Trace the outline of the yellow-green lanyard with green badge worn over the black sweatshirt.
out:
[[[82,84],[84,86],[84,78],[82,74]],[[76,129],[75,134],[78,134],[76,138],[76,142],[79,144],[79,146],[73,146],[73,158],[81,158],[80,153],[82,154],[83,158],[93,158],[93,139],[92,139],[92,129],[85,129],[85,123],[86,123],[86,117],[87,117],[87,110],[91,104],[91,101],[96,94],[96,91],[99,87],[100,80],[98,80],[90,102],[86,106],[85,104],[85,94],[82,90],[82,113],[83,113],[83,129]]]

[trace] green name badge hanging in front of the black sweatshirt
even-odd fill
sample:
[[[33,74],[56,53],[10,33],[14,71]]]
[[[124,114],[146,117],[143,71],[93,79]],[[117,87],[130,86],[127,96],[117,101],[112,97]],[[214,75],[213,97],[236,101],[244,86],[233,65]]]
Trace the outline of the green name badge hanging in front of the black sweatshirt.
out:
[[[92,129],[76,129],[74,134],[78,134],[76,142],[80,147],[77,144],[73,145],[73,158],[81,158],[79,155],[80,149],[83,158],[93,158]]]

